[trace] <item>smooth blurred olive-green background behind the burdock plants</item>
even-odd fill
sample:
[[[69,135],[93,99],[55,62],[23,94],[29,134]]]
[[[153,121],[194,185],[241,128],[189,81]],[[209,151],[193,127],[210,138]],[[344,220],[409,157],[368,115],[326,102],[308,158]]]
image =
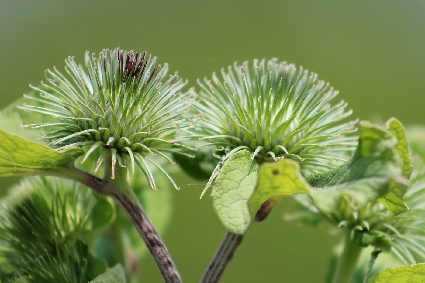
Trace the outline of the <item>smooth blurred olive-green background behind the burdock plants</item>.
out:
[[[425,1],[0,0],[0,108],[44,70],[86,50],[146,50],[189,79],[235,61],[281,61],[340,90],[354,117],[425,123]],[[201,185],[180,178],[163,235],[185,282],[198,282],[224,235]],[[9,179],[8,182],[14,182]],[[280,204],[244,239],[221,282],[323,282],[339,235],[283,221]],[[149,258],[143,282],[161,282]]]

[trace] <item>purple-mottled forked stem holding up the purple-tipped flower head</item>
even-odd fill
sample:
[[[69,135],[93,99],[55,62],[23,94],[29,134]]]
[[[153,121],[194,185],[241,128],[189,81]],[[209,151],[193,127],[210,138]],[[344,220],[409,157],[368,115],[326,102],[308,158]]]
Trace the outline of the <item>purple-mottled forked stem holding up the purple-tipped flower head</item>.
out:
[[[139,199],[127,182],[125,174],[119,171],[124,169],[116,168],[115,179],[111,179],[111,174],[108,174],[110,167],[108,170],[107,166],[105,164],[106,170],[103,180],[74,166],[57,171],[54,175],[81,182],[96,193],[113,196],[122,210],[127,214],[131,223],[136,227],[136,230],[139,232],[147,249],[149,249],[150,254],[155,260],[164,281],[166,283],[181,283],[181,277],[164,242],[147,217]]]

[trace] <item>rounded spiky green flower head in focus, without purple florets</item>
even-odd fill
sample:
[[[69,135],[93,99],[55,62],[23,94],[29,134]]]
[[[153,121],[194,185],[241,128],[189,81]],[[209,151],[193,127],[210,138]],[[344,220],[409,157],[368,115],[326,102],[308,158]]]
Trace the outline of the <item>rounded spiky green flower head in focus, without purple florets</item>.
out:
[[[301,161],[307,172],[334,167],[343,152],[354,149],[354,123],[338,123],[348,117],[347,104],[331,105],[338,92],[317,75],[277,59],[235,63],[222,78],[198,81],[200,139],[206,145],[223,146],[230,153],[247,149],[252,158]],[[204,145],[205,146],[205,145]]]

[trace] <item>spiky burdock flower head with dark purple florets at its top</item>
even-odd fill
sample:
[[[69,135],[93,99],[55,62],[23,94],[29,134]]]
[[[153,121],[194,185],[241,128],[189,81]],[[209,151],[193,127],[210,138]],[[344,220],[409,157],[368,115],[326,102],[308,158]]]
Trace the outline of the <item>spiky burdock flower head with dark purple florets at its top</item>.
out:
[[[48,81],[32,87],[40,97],[28,96],[33,105],[21,107],[54,119],[28,126],[52,129],[42,138],[59,148],[86,146],[82,162],[100,152],[95,173],[106,162],[112,178],[117,166],[127,168],[129,178],[138,165],[156,188],[148,163],[166,173],[147,155],[159,154],[173,163],[166,154],[187,148],[173,137],[188,126],[183,116],[188,94],[179,92],[186,82],[177,73],[166,78],[167,64],[156,66],[156,57],[145,52],[105,49],[99,57],[87,52],[84,66],[73,57],[65,62],[67,74],[47,70]]]

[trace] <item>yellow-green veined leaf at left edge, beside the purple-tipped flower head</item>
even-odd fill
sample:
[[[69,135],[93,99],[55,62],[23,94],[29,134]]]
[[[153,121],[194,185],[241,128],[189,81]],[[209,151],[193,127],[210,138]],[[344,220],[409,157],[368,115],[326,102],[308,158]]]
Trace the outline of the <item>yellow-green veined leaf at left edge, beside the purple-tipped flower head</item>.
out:
[[[0,130],[0,176],[34,175],[72,163],[78,147],[55,150]]]

